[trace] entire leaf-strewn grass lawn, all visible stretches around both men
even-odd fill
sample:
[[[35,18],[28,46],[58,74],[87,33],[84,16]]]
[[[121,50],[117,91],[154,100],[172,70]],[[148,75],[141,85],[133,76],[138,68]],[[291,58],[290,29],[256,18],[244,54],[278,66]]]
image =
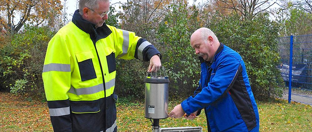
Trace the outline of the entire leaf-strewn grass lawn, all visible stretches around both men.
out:
[[[169,111],[180,101],[170,100]],[[312,108],[286,100],[258,102],[261,132],[311,132]],[[117,103],[117,126],[121,132],[151,131],[151,122],[144,118],[144,102]],[[162,119],[161,127],[201,126],[207,131],[205,114],[194,120]],[[0,92],[0,131],[53,131],[46,102]]]

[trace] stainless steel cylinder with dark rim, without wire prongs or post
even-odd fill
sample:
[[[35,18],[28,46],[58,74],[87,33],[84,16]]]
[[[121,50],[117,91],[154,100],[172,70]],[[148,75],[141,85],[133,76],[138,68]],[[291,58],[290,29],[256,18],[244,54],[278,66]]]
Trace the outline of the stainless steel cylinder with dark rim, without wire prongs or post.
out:
[[[168,117],[168,77],[145,78],[145,118]]]

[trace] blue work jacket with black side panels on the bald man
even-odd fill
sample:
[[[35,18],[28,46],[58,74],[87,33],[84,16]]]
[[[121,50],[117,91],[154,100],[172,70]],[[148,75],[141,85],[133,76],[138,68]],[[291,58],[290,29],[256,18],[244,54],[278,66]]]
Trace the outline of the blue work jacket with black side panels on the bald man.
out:
[[[181,105],[187,114],[204,109],[208,131],[259,132],[258,108],[245,63],[222,43],[212,61],[202,59],[199,87]]]

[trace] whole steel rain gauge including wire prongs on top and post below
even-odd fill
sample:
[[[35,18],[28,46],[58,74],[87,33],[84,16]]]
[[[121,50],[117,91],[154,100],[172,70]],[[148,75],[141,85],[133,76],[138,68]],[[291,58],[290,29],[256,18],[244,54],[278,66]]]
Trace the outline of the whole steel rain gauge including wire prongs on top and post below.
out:
[[[168,75],[163,66],[147,72],[145,82],[145,118],[154,119],[153,130],[159,129],[159,119],[168,117]]]

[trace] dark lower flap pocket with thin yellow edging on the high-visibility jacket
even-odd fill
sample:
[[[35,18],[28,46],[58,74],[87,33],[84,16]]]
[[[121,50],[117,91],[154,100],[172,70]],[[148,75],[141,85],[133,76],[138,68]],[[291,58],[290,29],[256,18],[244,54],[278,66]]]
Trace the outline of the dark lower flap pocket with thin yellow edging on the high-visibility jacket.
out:
[[[98,103],[71,105],[71,112],[76,113],[76,114],[97,113],[97,112],[100,112],[100,106]]]

